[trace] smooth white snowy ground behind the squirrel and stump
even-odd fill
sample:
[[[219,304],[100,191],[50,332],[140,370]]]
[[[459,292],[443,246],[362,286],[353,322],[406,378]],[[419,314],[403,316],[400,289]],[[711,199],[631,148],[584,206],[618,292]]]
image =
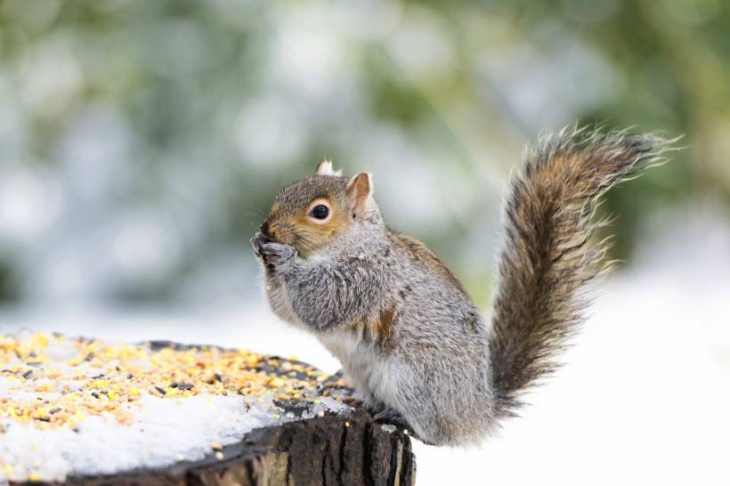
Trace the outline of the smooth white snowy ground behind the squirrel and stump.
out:
[[[701,238],[691,238],[702,235]],[[730,484],[730,231],[683,227],[607,282],[566,366],[482,447],[417,443],[418,485]],[[216,312],[54,310],[0,330],[174,339],[337,361],[264,306]]]

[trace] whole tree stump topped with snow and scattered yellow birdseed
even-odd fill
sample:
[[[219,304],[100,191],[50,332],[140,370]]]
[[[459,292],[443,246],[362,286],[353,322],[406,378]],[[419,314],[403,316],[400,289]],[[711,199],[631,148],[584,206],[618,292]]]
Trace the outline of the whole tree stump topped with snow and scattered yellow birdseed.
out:
[[[300,361],[0,335],[0,485],[403,485],[410,438]]]

